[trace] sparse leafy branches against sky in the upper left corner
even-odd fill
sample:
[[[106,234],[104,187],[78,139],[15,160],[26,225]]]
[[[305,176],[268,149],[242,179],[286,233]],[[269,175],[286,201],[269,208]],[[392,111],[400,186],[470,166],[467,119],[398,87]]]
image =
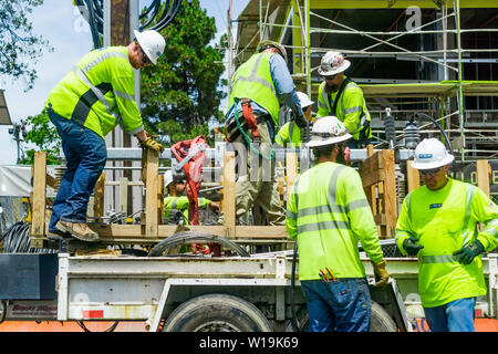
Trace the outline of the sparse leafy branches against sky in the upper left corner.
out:
[[[37,80],[34,65],[49,42],[33,33],[29,13],[43,0],[0,0],[0,75],[23,79],[27,91]]]

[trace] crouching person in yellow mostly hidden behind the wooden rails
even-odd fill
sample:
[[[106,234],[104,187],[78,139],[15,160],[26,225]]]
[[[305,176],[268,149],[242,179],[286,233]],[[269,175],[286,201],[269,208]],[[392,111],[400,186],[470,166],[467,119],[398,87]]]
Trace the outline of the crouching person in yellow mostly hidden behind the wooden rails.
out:
[[[185,183],[183,180],[174,180],[168,186],[168,196],[164,199],[164,210],[167,220],[172,220],[174,215],[172,210],[179,210],[181,212],[181,221],[188,225],[188,198],[184,195]],[[197,198],[199,208],[209,208],[212,212],[219,212],[219,204],[207,198]]]

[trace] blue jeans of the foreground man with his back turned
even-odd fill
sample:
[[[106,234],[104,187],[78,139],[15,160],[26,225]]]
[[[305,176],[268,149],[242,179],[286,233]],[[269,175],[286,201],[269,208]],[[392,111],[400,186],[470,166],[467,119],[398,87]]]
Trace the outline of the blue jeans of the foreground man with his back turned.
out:
[[[366,278],[301,281],[310,332],[370,332],[372,304]]]

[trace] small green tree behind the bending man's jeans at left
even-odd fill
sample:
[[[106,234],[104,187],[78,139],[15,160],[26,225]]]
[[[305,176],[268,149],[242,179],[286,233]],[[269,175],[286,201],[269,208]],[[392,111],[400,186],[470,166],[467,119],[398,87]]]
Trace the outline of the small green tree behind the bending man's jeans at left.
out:
[[[37,148],[25,150],[25,156],[21,160],[22,165],[32,165],[35,152],[46,152],[48,165],[61,165],[59,152],[61,149],[61,138],[58,131],[50,123],[46,110],[35,116],[29,116],[25,119],[28,134],[24,137],[24,144],[34,144]]]

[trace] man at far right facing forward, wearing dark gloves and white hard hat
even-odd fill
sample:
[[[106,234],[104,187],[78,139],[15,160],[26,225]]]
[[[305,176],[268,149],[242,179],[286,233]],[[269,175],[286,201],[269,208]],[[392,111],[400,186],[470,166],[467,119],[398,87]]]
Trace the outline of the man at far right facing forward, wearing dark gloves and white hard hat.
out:
[[[498,208],[479,188],[447,173],[454,156],[435,138],[415,148],[424,185],[403,201],[396,244],[418,257],[418,293],[433,332],[474,332],[476,296],[486,294],[480,253],[498,246]],[[485,228],[478,231],[477,223]]]

